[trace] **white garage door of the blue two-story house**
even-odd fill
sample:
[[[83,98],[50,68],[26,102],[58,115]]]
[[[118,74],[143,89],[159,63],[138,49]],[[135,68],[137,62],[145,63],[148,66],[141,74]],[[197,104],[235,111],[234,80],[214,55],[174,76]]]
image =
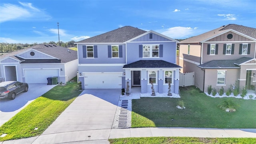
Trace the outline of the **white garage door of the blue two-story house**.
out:
[[[85,73],[85,89],[122,88],[122,72]]]

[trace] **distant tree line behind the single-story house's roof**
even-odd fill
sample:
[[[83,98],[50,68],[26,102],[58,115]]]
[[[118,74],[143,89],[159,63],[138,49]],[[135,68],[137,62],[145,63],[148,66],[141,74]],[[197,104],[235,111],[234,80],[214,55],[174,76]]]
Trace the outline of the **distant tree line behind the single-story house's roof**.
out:
[[[69,42],[54,42],[54,41],[50,41],[50,42],[43,42],[40,44],[56,44],[58,46],[62,46],[64,48],[70,48],[70,47],[74,47],[74,40],[69,41]],[[18,44],[13,44],[13,43],[7,43],[7,42],[2,42],[0,43],[0,53],[8,53],[8,52],[14,52],[16,50],[20,50],[22,48],[28,48],[34,45],[38,45],[37,42],[32,43],[32,44],[22,44],[22,43],[18,43]]]

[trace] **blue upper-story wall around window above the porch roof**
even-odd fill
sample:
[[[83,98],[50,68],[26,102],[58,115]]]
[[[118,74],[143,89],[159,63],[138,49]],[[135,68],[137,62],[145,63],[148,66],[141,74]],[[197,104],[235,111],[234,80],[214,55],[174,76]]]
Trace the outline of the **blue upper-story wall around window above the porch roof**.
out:
[[[139,45],[143,44],[162,44],[163,56],[158,58],[140,58]],[[164,60],[176,63],[176,42],[128,42],[127,43],[127,64],[138,60]]]

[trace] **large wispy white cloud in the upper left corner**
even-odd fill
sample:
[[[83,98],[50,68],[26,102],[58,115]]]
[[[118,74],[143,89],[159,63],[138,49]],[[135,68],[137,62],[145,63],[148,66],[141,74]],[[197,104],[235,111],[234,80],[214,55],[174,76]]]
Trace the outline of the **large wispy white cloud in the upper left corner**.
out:
[[[20,5],[3,4],[0,6],[0,23],[11,20],[48,20],[44,11],[32,6],[32,3],[19,2]]]

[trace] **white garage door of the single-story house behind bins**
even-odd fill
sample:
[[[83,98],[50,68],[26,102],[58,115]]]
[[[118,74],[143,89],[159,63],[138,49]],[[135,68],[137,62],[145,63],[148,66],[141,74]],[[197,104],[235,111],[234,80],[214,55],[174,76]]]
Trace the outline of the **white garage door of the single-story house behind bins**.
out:
[[[58,69],[25,70],[25,82],[28,84],[47,84],[47,78],[59,76]]]

